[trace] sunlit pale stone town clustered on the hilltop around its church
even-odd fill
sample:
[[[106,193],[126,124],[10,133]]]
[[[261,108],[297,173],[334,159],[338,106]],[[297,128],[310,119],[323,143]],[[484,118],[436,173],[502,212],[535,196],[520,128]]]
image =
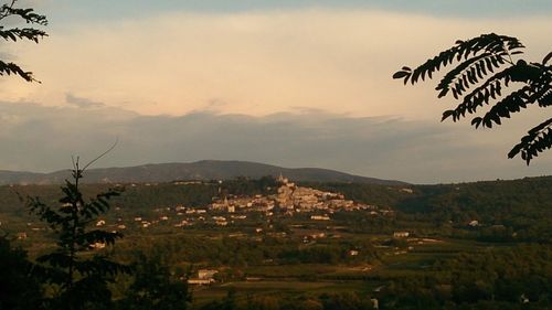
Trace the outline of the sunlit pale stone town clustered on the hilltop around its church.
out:
[[[222,181],[220,183],[222,184]],[[177,184],[185,185],[190,184],[190,182],[178,182]],[[262,213],[267,217],[275,215],[294,216],[299,213],[310,214],[309,218],[312,221],[330,221],[331,215],[338,211],[363,210],[374,216],[393,214],[393,211],[389,207],[347,200],[341,193],[299,186],[283,175],[279,175],[276,184],[277,188],[268,189],[273,194],[255,195],[223,193],[219,188],[219,194],[213,196],[212,202],[203,207],[188,207],[181,204],[158,207],[153,210],[159,214],[158,218],[146,220],[144,216],[137,216],[135,222],[147,228],[161,222],[174,223],[171,216],[176,215],[178,218],[177,223],[173,224],[176,227],[192,226],[194,223],[212,223],[217,226],[226,226],[229,223],[246,220],[247,213],[251,212]],[[125,226],[118,228],[125,228]]]

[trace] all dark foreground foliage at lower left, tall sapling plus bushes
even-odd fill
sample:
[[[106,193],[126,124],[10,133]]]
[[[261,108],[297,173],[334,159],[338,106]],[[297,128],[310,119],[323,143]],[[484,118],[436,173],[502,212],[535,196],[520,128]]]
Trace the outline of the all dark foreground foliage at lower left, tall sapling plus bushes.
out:
[[[161,261],[159,254],[134,252],[117,261],[97,249],[113,246],[123,235],[97,228],[120,188],[84,195],[78,161],[73,180],[54,201],[28,195],[25,210],[52,231],[55,246],[30,260],[26,253],[0,237],[0,309],[17,310],[185,310],[187,281]],[[177,276],[178,277],[178,276]],[[123,289],[117,291],[119,286]]]

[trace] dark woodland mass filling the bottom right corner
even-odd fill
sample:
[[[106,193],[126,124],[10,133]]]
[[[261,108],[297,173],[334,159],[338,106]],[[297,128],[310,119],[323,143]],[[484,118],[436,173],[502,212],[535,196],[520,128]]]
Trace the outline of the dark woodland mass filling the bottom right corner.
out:
[[[388,280],[382,309],[550,309],[552,247],[520,245],[439,260]]]

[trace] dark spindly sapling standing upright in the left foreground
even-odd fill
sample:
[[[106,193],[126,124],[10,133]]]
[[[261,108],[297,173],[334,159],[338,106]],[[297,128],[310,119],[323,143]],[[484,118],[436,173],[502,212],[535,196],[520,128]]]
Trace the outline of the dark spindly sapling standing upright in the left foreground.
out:
[[[87,165],[86,165],[87,167]],[[120,194],[113,189],[85,200],[79,180],[86,169],[74,164],[73,181],[62,186],[64,196],[60,206],[52,207],[39,197],[29,197],[30,212],[57,235],[57,248],[36,258],[40,264],[35,275],[56,291],[51,306],[54,309],[104,309],[110,306],[112,296],[107,284],[119,272],[128,272],[127,266],[109,260],[102,254],[91,254],[98,245],[113,245],[121,237],[118,232],[88,229],[91,223],[109,210],[109,200]]]

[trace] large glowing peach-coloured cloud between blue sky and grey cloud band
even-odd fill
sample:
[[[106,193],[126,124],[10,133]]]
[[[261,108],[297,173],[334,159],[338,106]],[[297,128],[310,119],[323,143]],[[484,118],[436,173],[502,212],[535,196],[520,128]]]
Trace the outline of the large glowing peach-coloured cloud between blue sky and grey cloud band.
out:
[[[12,44],[10,52],[43,84],[10,79],[0,90],[6,100],[44,105],[60,105],[68,92],[145,115],[183,115],[223,98],[214,109],[224,114],[264,116],[300,106],[433,118],[442,109],[434,104],[434,83],[404,87],[393,72],[457,39],[491,31],[519,36],[528,58],[542,60],[549,29],[552,21],[539,17],[372,9],[163,12],[52,26],[39,45]]]

